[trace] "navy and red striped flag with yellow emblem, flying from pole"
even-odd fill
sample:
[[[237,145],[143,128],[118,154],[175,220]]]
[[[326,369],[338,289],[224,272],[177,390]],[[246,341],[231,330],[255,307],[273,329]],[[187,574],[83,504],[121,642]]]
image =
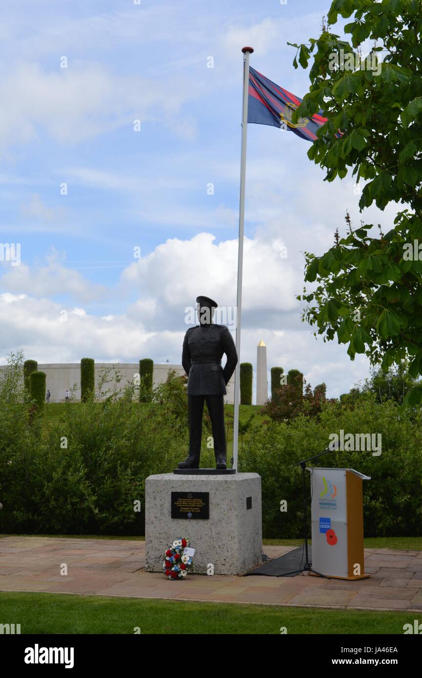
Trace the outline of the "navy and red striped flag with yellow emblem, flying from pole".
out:
[[[287,89],[275,85],[254,68],[249,68],[248,123],[282,127],[302,139],[313,141],[317,138],[318,129],[327,119],[320,113],[315,113],[312,119],[299,118],[297,123],[293,124],[292,113],[302,101],[299,96],[290,94]]]

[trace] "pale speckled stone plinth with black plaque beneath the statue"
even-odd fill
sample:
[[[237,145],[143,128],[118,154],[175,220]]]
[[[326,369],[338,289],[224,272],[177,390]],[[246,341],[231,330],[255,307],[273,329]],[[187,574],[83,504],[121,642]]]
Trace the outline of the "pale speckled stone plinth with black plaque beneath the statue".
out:
[[[208,492],[210,517],[171,517],[172,492]],[[250,508],[248,508],[250,506]],[[164,553],[174,539],[189,538],[197,574],[240,574],[262,562],[261,476],[150,475],[145,481],[146,567],[163,572]]]

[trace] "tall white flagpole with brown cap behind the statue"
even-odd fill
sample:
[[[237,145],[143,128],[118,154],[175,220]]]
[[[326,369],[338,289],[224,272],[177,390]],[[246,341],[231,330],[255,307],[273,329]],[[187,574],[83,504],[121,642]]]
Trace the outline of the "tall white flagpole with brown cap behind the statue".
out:
[[[236,313],[236,353],[235,368],[235,404],[233,418],[233,464],[237,471],[237,445],[239,439],[239,400],[240,400],[240,328],[242,323],[242,274],[244,258],[244,222],[245,222],[245,178],[246,178],[246,133],[248,131],[249,99],[249,56],[252,47],[242,47],[244,53],[244,87],[242,111],[242,151],[240,154],[240,197],[239,197],[239,246],[237,250],[237,313]]]

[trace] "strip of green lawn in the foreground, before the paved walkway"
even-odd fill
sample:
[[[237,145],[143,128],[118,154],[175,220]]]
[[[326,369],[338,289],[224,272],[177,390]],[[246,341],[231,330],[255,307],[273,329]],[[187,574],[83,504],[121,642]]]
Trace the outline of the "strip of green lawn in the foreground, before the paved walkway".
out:
[[[171,585],[171,582],[170,582]],[[0,593],[1,623],[21,634],[403,634],[408,612],[145,600],[56,593]],[[410,615],[411,616],[411,615]]]

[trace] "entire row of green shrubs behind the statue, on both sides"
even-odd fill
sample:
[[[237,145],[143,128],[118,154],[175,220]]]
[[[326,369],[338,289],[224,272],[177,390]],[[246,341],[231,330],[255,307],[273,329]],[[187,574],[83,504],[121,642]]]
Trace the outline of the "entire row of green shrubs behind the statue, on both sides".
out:
[[[189,449],[187,396],[175,372],[153,388],[151,403],[134,401],[134,388],[72,403],[60,419],[37,417],[30,425],[22,361],[10,359],[0,377],[0,532],[145,534],[145,478],[172,473]],[[371,476],[363,483],[365,535],[420,534],[422,414],[363,394],[353,408],[326,401],[318,416],[300,412],[288,424],[265,425],[250,418],[239,426],[239,471],[262,477],[265,537],[302,536],[301,471],[293,464],[326,449],[341,429],[382,435],[380,456],[339,451],[315,460]],[[202,466],[213,462],[203,436]]]

